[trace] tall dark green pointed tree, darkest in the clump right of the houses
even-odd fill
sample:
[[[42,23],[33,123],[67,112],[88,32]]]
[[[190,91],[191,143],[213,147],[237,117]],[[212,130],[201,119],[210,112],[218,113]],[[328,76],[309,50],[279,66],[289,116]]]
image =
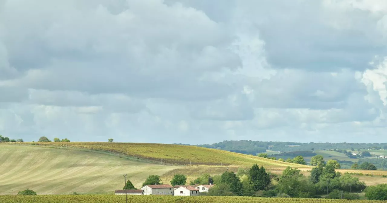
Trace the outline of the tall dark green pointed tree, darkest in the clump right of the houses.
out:
[[[264,190],[270,184],[270,176],[266,173],[265,168],[254,164],[248,172],[248,181],[253,191]]]

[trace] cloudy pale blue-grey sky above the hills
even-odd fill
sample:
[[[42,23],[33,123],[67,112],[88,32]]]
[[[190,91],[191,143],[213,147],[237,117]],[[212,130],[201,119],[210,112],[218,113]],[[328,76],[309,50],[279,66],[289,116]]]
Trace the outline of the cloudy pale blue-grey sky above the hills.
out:
[[[0,0],[0,134],[386,142],[385,0]]]

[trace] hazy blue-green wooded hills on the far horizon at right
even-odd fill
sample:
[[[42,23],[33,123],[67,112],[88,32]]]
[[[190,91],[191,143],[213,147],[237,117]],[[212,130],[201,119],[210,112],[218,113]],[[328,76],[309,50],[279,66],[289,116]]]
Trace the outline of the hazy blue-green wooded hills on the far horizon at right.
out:
[[[188,145],[175,143],[177,145]],[[330,150],[330,149],[348,149],[348,150],[364,150],[364,149],[387,149],[387,143],[300,143],[300,142],[261,142],[251,140],[231,140],[214,143],[212,145],[194,145],[198,147],[221,149],[230,152],[238,152],[242,154],[257,155],[258,153],[266,152],[266,150],[278,152],[295,152],[309,150]]]

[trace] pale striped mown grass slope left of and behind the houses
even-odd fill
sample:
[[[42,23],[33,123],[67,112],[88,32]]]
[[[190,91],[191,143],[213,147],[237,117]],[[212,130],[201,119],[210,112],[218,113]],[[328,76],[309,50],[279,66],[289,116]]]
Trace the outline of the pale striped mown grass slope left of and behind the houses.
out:
[[[0,194],[26,188],[38,194],[106,193],[122,189],[128,177],[140,187],[149,174],[179,168],[126,160],[82,150],[0,145]]]

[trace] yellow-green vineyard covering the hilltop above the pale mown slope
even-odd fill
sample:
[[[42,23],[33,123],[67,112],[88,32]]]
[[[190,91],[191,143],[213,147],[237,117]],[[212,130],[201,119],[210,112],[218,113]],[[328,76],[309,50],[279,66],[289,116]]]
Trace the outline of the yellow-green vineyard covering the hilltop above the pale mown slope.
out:
[[[267,168],[285,168],[287,166],[311,168],[307,165],[280,162],[253,155],[238,154],[195,146],[153,144],[153,143],[115,143],[115,142],[13,142],[10,144],[43,145],[52,147],[75,147],[105,152],[122,153],[141,159],[178,165],[253,165]]]

